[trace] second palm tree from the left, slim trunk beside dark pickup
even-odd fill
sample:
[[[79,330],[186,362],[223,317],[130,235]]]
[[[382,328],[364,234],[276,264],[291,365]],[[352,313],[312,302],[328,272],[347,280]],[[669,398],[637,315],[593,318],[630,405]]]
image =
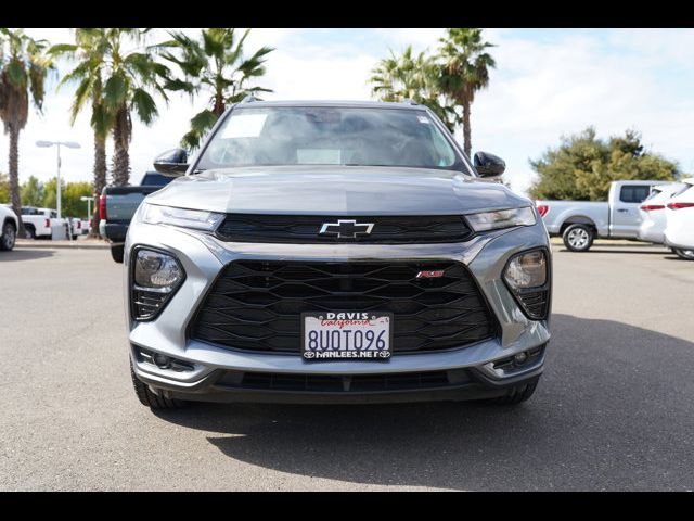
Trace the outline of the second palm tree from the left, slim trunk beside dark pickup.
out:
[[[49,50],[52,55],[66,56],[77,62],[59,84],[59,88],[68,82],[77,84],[70,107],[70,125],[75,124],[75,119],[82,109],[88,103],[91,104],[91,128],[94,132],[93,192],[95,198],[106,186],[106,139],[114,125],[114,117],[105,110],[103,103],[107,41],[106,29],[78,28],[75,29],[75,43],[59,43]],[[92,237],[99,236],[99,205],[94,205],[90,231]]]

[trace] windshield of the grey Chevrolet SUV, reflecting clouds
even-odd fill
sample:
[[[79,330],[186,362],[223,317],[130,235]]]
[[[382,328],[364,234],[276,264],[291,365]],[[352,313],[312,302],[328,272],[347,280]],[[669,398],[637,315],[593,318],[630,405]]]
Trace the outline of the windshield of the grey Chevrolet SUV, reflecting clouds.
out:
[[[236,109],[196,169],[255,165],[464,168],[424,111],[332,106]]]

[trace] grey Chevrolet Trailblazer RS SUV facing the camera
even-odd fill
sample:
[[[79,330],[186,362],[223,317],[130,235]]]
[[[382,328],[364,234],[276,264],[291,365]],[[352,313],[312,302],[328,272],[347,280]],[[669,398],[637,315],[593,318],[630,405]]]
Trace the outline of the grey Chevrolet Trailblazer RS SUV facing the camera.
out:
[[[125,244],[132,381],[214,402],[516,404],[550,340],[532,203],[414,103],[245,100]],[[494,179],[496,178],[496,179]]]

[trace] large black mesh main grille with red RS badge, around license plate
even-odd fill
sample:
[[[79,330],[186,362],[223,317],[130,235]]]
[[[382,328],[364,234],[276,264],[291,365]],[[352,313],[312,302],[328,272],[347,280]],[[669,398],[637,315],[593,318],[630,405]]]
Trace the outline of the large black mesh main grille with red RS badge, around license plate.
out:
[[[438,278],[420,271],[442,270]],[[240,350],[299,353],[300,314],[389,312],[394,353],[460,347],[494,334],[472,275],[455,262],[229,264],[193,320],[193,339]]]

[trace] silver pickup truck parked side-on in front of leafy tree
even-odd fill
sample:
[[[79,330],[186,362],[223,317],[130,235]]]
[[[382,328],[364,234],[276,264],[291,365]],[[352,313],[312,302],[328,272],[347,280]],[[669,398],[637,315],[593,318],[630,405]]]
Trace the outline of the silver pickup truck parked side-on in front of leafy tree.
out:
[[[638,239],[639,206],[664,181],[613,181],[607,201],[536,201],[551,236],[573,252],[587,252],[595,238]]]

